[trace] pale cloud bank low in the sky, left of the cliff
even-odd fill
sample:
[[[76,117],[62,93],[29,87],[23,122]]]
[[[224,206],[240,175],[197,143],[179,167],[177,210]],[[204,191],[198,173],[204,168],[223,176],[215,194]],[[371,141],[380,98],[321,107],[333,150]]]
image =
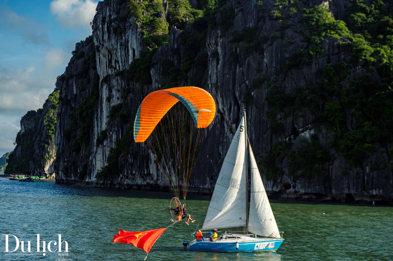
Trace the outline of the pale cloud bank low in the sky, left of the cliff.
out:
[[[14,149],[20,118],[31,110],[42,108],[56,82],[56,68],[64,68],[62,53],[51,49],[42,55],[44,61],[23,68],[0,65],[0,154]],[[42,68],[42,69],[41,69]],[[62,69],[64,70],[64,69]]]

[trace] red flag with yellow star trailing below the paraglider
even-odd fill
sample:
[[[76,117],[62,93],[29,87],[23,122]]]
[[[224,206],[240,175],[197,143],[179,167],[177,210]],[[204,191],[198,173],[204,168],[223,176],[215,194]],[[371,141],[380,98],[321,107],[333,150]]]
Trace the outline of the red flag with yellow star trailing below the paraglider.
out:
[[[120,229],[119,233],[113,236],[113,243],[120,242],[132,244],[149,253],[151,247],[154,245],[154,243],[156,243],[158,237],[161,236],[165,229],[167,228],[158,228],[139,232],[128,232]]]

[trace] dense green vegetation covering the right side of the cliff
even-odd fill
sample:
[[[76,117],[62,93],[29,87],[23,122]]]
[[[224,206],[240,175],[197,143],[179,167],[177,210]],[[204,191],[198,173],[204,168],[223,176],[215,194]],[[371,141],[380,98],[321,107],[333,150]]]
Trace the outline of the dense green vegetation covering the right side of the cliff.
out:
[[[320,78],[316,83],[293,87],[289,94],[282,91],[282,82],[274,82],[266,98],[272,128],[279,124],[275,120],[278,114],[284,119],[289,116],[298,119],[305,112],[312,114],[316,126],[326,127],[333,133],[328,145],[347,160],[349,170],[360,167],[379,146],[393,141],[389,134],[393,127],[393,13],[390,5],[381,0],[370,2],[366,5],[363,0],[351,0],[345,21],[335,20],[325,7],[303,8],[300,22],[308,29],[303,33],[303,41],[309,43],[309,49],[293,53],[286,68],[307,65],[320,58],[321,44],[326,37],[339,39],[340,45],[350,53],[348,62],[328,63],[318,71]],[[356,67],[361,67],[363,72],[354,73]],[[376,75],[382,79],[378,80]],[[354,123],[349,123],[348,119],[353,119]],[[282,128],[276,129],[277,134],[282,131]],[[301,149],[294,151],[284,143],[286,141],[277,144],[263,161],[270,178],[281,175],[277,170],[280,158],[288,157],[290,165],[299,162],[292,155],[300,155]],[[309,157],[315,159],[316,155]],[[294,177],[326,173],[329,157],[323,156],[321,160],[320,163],[309,160],[299,165]],[[389,162],[373,164],[379,169]],[[318,167],[319,171],[306,170],[311,167]]]

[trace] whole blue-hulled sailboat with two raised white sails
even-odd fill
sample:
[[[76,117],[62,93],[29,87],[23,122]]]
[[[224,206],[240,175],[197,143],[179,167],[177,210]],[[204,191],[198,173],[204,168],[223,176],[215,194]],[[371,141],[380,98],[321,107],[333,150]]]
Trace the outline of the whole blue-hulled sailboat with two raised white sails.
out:
[[[190,250],[212,252],[275,251],[283,243],[246,134],[246,112],[222,164],[203,229],[246,227],[246,235],[222,234],[222,239],[194,239]],[[247,218],[248,154],[251,162],[250,215]],[[246,220],[247,219],[247,220]],[[247,222],[246,222],[247,221]],[[248,231],[255,234],[248,234]],[[263,237],[257,237],[257,235]],[[187,241],[186,241],[187,242]],[[188,242],[187,242],[188,243]],[[183,243],[184,245],[184,243]]]

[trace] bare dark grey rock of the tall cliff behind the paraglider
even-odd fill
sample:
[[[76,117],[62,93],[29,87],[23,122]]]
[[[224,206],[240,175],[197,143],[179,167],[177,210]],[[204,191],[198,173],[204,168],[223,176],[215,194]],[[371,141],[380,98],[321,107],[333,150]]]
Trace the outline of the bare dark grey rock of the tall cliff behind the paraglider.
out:
[[[147,84],[137,82],[130,73],[130,64],[146,58],[149,51],[141,23],[130,15],[128,1],[99,2],[92,37],[76,45],[56,83],[60,90],[53,143],[57,182],[165,189],[154,160],[133,142],[129,127],[143,98],[171,82],[173,75],[164,66],[170,63],[183,73],[177,86],[204,87],[217,105],[196,161],[191,190],[208,192],[214,187],[244,106],[248,135],[271,197],[391,201],[391,143],[374,142],[360,163],[351,164],[332,145],[336,132],[329,120],[320,120],[328,101],[307,107],[307,97],[312,97],[314,89],[322,89],[324,82],[333,85],[328,72],[335,68],[339,74],[343,64],[348,64],[346,74],[337,83],[342,90],[350,89],[366,72],[375,84],[382,82],[378,64],[351,65],[353,49],[343,44],[346,40],[327,36],[318,42],[313,38],[314,28],[304,22],[303,8],[318,6],[328,8],[336,20],[345,19],[350,2],[221,3],[216,13],[191,27],[169,29],[168,42],[154,49],[149,58],[151,82]],[[163,1],[160,15],[165,21],[170,20],[168,5]],[[310,56],[309,50],[317,51]],[[338,100],[333,97],[329,106]],[[342,125],[355,130],[356,118],[349,112],[345,115]],[[114,167],[111,175],[103,174],[105,166]]]

